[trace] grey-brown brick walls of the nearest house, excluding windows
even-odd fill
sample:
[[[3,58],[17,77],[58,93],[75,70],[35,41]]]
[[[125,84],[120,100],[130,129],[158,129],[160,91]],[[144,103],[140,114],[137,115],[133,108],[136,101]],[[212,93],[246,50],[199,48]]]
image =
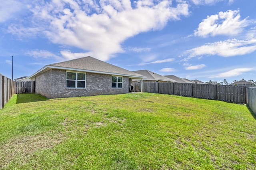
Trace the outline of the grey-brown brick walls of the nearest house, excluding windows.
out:
[[[45,73],[46,75],[42,76]],[[39,90],[38,93],[48,98],[129,93],[128,77],[123,77],[122,89],[112,89],[112,75],[86,73],[86,89],[66,89],[66,70],[51,69],[51,81],[46,81],[46,77],[49,77],[49,75],[48,71],[46,71],[45,73],[40,75],[40,79],[38,79],[39,76],[36,77],[36,84],[40,84],[41,90]],[[48,86],[51,91],[48,91],[47,88],[42,88],[42,86],[44,85]]]

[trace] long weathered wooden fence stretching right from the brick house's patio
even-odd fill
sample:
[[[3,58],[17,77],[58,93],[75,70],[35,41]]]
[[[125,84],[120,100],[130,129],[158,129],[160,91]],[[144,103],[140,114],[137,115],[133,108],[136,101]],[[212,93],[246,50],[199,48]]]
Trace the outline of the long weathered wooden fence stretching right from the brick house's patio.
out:
[[[140,91],[140,83],[132,83]],[[246,103],[246,87],[194,83],[143,83],[143,92]]]

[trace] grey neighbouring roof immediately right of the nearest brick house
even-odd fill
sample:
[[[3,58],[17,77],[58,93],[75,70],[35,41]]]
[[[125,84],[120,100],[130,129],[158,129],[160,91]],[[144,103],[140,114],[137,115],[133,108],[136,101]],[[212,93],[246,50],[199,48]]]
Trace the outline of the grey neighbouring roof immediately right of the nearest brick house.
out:
[[[169,79],[168,77],[164,77],[162,75],[159,75],[157,73],[154,73],[154,72],[148,71],[148,70],[137,70],[137,71],[132,71],[132,72],[138,73],[140,75],[144,75],[145,77],[147,77],[146,79],[143,79],[143,81],[145,81],[145,80],[159,80],[159,81],[176,82],[173,79]]]

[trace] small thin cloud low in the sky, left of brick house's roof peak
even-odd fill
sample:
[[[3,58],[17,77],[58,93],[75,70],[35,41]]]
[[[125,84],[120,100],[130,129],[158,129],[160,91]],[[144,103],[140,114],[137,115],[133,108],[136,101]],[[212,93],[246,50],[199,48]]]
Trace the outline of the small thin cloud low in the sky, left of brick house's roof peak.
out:
[[[26,55],[30,55],[34,58],[51,58],[51,59],[62,59],[62,57],[46,50],[33,50],[33,51],[26,51]]]

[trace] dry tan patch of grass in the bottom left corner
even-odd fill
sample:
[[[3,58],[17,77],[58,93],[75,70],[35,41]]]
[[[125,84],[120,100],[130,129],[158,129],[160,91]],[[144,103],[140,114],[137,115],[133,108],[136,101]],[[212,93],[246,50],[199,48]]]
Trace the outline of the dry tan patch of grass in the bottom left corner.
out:
[[[11,162],[22,165],[29,161],[35,151],[52,148],[62,140],[62,134],[54,134],[54,136],[38,134],[14,138],[0,146],[0,169],[6,168]]]

